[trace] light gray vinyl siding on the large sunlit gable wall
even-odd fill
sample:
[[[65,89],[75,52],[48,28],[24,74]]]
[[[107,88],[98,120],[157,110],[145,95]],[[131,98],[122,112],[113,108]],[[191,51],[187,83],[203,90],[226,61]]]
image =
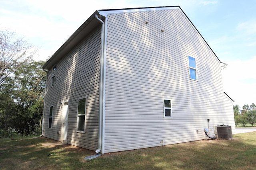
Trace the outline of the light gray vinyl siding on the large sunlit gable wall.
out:
[[[106,153],[205,139],[207,119],[210,136],[220,124],[234,132],[220,63],[180,10],[109,14],[106,41]],[[164,118],[164,98],[172,118]]]

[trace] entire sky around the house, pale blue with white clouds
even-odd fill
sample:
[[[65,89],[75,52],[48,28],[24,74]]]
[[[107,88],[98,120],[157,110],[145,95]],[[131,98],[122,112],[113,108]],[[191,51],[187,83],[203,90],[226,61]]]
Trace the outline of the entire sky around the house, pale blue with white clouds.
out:
[[[224,92],[234,104],[256,103],[255,0],[0,0],[0,27],[39,47],[46,60],[96,10],[180,6],[214,53],[222,70]]]

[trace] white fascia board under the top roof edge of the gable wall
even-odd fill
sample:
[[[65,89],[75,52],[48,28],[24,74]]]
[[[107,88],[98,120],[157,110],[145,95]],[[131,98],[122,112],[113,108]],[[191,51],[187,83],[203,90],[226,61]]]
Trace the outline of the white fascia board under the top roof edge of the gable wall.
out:
[[[120,10],[98,10],[100,15],[107,17],[108,14],[120,14],[120,13],[130,13],[130,12],[145,12],[145,11],[158,11],[158,10],[174,10],[180,9],[178,6],[173,7],[152,7],[152,8],[134,8],[134,9],[120,9]]]

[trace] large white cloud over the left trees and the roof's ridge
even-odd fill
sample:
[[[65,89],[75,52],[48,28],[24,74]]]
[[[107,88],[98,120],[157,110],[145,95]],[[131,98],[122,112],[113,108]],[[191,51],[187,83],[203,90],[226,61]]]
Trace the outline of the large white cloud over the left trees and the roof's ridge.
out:
[[[24,35],[30,43],[44,51],[40,58],[47,59],[96,10],[173,5],[191,9],[197,3],[196,0],[12,0],[0,4],[0,26]]]

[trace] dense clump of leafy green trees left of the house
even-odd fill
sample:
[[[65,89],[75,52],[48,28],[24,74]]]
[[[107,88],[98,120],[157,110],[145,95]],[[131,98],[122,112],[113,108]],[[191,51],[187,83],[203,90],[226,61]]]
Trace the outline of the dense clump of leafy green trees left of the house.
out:
[[[4,80],[0,86],[0,129],[12,127],[24,134],[35,130],[39,133],[46,82],[46,73],[41,69],[44,63],[24,63]]]

